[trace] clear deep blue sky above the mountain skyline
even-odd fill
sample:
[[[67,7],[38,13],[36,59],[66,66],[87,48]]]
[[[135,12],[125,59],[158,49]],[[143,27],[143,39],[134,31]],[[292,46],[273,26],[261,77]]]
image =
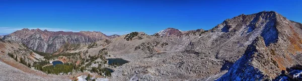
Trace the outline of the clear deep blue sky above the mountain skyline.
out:
[[[241,14],[276,11],[302,22],[302,1],[13,1],[0,0],[0,35],[22,28],[154,34],[168,27],[209,30]]]

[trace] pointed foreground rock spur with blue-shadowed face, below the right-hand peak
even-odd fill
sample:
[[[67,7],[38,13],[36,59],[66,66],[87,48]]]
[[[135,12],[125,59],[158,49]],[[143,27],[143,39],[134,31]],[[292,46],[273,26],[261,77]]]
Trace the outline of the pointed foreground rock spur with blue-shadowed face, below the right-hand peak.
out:
[[[264,77],[262,71],[255,67],[254,60],[259,60],[257,57],[263,56],[259,50],[263,49],[263,38],[259,37],[247,48],[245,54],[237,60],[227,73],[217,80],[261,80]],[[264,59],[264,58],[262,58]],[[272,62],[268,61],[269,64]],[[274,66],[274,65],[273,65]]]

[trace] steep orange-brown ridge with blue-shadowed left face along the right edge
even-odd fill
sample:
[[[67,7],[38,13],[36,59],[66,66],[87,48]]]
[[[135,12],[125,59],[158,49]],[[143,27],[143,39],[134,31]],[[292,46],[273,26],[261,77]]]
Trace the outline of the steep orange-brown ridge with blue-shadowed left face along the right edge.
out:
[[[263,26],[259,37],[248,46],[244,55],[233,64],[228,73],[217,80],[272,79],[282,70],[302,62],[299,60],[301,25],[275,12],[262,13],[260,15],[272,17],[263,19],[272,21]]]

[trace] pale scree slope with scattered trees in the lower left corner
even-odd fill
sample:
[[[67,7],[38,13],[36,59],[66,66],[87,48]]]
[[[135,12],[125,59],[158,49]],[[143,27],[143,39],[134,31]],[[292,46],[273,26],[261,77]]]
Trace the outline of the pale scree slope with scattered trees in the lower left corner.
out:
[[[0,39],[0,51],[0,80],[69,80],[66,77],[32,70],[29,65],[44,58],[21,42]]]

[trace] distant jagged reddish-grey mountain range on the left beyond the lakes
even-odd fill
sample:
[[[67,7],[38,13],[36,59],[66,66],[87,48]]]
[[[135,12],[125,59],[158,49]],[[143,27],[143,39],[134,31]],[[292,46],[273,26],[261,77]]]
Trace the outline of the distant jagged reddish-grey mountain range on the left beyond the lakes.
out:
[[[3,37],[4,40],[20,41],[30,49],[53,53],[65,43],[71,44],[90,44],[102,39],[118,37],[106,36],[101,32],[52,32],[40,29],[22,29]]]

